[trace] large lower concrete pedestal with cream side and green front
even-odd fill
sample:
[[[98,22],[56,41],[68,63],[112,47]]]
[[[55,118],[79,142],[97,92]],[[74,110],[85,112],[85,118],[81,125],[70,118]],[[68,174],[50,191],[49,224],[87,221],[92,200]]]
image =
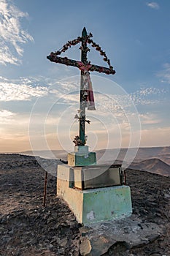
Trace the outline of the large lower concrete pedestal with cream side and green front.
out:
[[[58,165],[57,195],[69,204],[78,222],[90,225],[120,219],[132,213],[130,187],[74,189],[70,186],[71,169],[68,165]]]

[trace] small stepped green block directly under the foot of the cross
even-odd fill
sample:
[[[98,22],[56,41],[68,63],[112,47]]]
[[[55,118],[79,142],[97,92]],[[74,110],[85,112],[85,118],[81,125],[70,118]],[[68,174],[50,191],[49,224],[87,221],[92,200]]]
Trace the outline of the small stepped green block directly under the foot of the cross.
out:
[[[88,146],[76,146],[67,156],[69,166],[87,166],[96,164],[96,152],[89,152]]]

